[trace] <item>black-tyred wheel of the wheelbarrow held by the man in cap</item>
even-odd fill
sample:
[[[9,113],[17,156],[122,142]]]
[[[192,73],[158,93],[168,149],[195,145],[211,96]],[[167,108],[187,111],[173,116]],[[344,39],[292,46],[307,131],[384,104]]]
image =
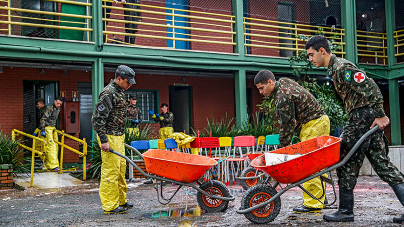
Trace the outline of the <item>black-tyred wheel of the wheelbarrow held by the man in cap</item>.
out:
[[[226,185],[220,181],[210,180],[204,182],[199,188],[211,195],[230,197],[229,189],[227,189]],[[200,208],[206,212],[225,211],[229,204],[229,201],[211,198],[200,192],[196,194],[196,200],[198,201]]]

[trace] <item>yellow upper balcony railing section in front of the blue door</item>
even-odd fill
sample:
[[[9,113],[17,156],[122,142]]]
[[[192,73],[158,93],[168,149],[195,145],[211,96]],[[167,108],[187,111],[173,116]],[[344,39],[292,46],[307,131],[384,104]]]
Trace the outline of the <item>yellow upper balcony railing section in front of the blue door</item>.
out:
[[[113,3],[113,1],[107,0],[103,0],[103,2]],[[121,37],[142,37],[143,39],[152,40],[172,40],[173,45],[172,47],[168,48],[175,48],[175,41],[189,41],[224,45],[236,44],[233,41],[233,35],[235,35],[235,32],[233,31],[235,17],[232,15],[214,14],[141,4],[126,4],[139,6],[140,9],[129,9],[117,7],[116,5],[103,5],[104,14],[106,15],[106,17],[103,18],[105,27],[103,32],[104,35],[106,35],[106,42],[115,41],[117,43],[141,46],[124,41],[117,41],[116,39],[111,38],[111,35],[117,35]],[[111,12],[107,13],[107,9],[110,9]],[[138,16],[124,15],[125,11],[142,13],[142,17],[140,18]],[[179,14],[178,12],[184,12],[186,14]],[[136,17],[141,19],[141,21],[127,21],[124,20],[124,17]],[[169,17],[171,17],[171,19]],[[186,20],[182,21],[178,20],[178,18],[184,18]],[[190,21],[189,19],[192,19],[192,21]],[[184,26],[177,26],[175,25],[176,23],[183,23]],[[136,24],[138,25],[138,27],[125,28],[125,24]],[[169,31],[170,29],[171,31]],[[183,31],[179,32],[176,31],[176,29],[182,29]],[[136,33],[127,33],[126,31],[129,30],[135,30]],[[184,37],[178,37],[179,35]],[[137,41],[135,43],[137,43]],[[167,48],[167,44],[165,42],[163,44],[159,44],[159,42],[157,41],[141,43],[143,44],[143,46]]]

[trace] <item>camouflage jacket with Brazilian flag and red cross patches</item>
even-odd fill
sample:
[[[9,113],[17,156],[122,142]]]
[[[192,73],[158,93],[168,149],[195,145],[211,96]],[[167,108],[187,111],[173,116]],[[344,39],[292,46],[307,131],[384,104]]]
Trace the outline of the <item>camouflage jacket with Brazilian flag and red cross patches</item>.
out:
[[[369,107],[375,112],[376,118],[385,115],[383,109],[383,95],[372,78],[358,69],[348,60],[332,55],[328,63],[328,74],[332,75],[335,90],[341,96],[346,111]]]

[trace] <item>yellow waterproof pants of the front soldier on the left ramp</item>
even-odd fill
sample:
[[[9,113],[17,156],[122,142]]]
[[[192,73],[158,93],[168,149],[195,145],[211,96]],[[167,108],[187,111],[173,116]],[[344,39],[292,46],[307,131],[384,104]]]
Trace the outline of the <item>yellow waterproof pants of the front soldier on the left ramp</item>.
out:
[[[55,141],[58,141],[58,133],[54,133],[55,127],[46,126],[45,134],[46,134],[46,163],[45,167],[49,171],[56,167],[59,167],[58,160],[58,144]]]

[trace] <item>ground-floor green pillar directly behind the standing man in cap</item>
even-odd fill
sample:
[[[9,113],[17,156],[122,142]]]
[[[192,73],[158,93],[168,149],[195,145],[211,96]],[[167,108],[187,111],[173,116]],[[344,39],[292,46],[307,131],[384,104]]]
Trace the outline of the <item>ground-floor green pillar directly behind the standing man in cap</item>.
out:
[[[91,93],[92,93],[92,109],[98,102],[98,95],[104,88],[104,63],[102,59],[97,59],[91,63]],[[94,140],[95,132],[93,131],[92,139]]]

